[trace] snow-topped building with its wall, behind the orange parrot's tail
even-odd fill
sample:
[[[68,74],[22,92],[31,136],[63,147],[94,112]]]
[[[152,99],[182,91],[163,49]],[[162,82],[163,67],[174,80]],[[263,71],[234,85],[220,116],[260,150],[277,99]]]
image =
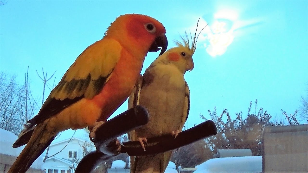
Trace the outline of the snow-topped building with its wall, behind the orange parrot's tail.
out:
[[[18,148],[13,148],[13,143],[18,139],[17,135],[1,128],[0,136],[0,172],[6,173],[9,171],[22,149],[25,148],[25,145]],[[40,155],[26,173],[43,173],[44,169],[42,165],[43,156]]]

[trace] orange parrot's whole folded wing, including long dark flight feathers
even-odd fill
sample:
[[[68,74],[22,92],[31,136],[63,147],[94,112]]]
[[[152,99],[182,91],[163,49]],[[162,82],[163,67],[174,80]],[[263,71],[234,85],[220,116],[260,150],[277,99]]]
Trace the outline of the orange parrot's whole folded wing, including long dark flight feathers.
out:
[[[51,91],[32,125],[59,113],[80,99],[92,99],[103,89],[120,59],[122,46],[113,39],[102,39],[87,47]]]

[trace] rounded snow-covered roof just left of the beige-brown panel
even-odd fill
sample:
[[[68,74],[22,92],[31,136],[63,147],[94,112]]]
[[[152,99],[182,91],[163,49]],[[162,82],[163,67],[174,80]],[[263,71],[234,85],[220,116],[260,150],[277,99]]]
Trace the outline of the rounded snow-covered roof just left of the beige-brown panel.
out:
[[[262,156],[224,157],[201,163],[193,173],[262,172]]]

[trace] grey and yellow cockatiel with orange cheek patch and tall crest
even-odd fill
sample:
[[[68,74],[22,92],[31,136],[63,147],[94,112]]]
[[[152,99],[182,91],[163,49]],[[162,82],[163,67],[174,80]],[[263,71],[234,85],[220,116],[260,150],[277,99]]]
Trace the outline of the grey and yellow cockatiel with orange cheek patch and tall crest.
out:
[[[193,70],[192,56],[197,47],[199,34],[197,35],[196,29],[194,38],[190,35],[192,41],[190,45],[186,33],[186,38],[182,37],[183,44],[176,41],[177,47],[160,55],[146,69],[139,85],[136,86],[136,91],[129,97],[128,108],[139,104],[144,106],[150,115],[146,125],[129,133],[130,140],[139,140],[144,151],[146,147],[143,142],[147,143],[146,138],[164,134],[172,134],[176,138],[182,131],[190,107],[190,93],[187,82],[184,80],[184,74],[188,70]],[[135,161],[131,157],[131,172],[164,173],[171,154],[172,151],[168,151],[137,156]]]

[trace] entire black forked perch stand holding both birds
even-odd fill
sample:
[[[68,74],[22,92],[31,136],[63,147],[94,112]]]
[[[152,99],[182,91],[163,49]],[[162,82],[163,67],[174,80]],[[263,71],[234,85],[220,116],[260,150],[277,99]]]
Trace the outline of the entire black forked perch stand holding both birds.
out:
[[[148,111],[138,105],[102,124],[95,132],[94,145],[97,150],[88,153],[81,159],[75,173],[90,173],[99,163],[114,157],[115,155],[108,150],[107,145],[117,137],[145,125],[148,121]],[[180,132],[176,139],[172,137],[172,134],[148,139],[148,145],[145,144],[146,151],[140,146],[139,141],[124,142],[121,145],[120,152],[131,156],[150,155],[174,150],[216,134],[217,128],[215,123],[212,120],[208,120]]]

